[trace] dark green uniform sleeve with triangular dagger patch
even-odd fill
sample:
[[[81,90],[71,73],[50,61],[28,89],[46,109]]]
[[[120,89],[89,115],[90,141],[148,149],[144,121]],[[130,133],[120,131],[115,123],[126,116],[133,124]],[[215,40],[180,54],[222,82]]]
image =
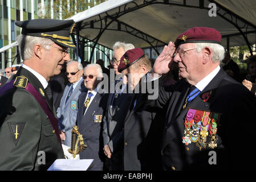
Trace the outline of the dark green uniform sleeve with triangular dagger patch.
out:
[[[0,170],[32,170],[37,162],[43,110],[26,90],[11,94],[13,92],[0,98],[1,103],[6,103],[0,105],[0,118],[4,119],[0,128]],[[22,130],[11,129],[11,125],[21,127],[21,123]],[[17,139],[15,133],[18,133]],[[15,140],[18,141],[16,145]]]

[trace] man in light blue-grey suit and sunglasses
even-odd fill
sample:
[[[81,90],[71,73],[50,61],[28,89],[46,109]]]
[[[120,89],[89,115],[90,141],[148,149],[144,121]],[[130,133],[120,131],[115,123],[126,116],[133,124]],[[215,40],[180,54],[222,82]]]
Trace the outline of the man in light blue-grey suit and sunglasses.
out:
[[[78,97],[82,93],[83,86],[83,65],[78,61],[71,61],[67,64],[68,84],[64,90],[60,106],[57,109],[57,117],[59,119],[60,138],[64,140],[64,144],[71,147],[71,131],[76,123],[78,114]]]

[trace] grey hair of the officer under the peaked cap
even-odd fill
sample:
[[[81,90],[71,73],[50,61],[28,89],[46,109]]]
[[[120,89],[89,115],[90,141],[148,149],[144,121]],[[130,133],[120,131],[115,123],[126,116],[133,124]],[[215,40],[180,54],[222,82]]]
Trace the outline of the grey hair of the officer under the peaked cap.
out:
[[[39,38],[37,36],[23,34],[17,36],[16,41],[19,44],[19,52],[21,53],[21,58],[23,60],[28,60],[32,57],[35,44],[38,43],[47,51],[49,51],[51,44],[54,43],[51,39],[48,38]]]

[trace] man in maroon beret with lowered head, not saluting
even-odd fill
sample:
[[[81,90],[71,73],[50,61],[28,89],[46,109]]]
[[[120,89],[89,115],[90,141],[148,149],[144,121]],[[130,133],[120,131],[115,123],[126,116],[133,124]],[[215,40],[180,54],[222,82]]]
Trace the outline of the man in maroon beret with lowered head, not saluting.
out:
[[[128,50],[121,57],[118,71],[128,78],[131,101],[124,117],[123,169],[125,171],[157,170],[160,168],[160,127],[153,120],[159,110],[145,106],[140,97],[141,80],[151,70],[151,61],[143,49]],[[124,80],[125,81],[125,80]],[[159,129],[159,130],[158,130]]]

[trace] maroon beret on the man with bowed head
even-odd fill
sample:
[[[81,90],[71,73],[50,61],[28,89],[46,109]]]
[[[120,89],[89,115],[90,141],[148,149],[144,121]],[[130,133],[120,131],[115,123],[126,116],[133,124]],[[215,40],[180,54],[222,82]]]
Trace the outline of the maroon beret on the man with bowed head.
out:
[[[118,72],[122,72],[124,69],[130,67],[144,56],[144,51],[141,48],[134,48],[126,51],[120,59],[118,66]]]

